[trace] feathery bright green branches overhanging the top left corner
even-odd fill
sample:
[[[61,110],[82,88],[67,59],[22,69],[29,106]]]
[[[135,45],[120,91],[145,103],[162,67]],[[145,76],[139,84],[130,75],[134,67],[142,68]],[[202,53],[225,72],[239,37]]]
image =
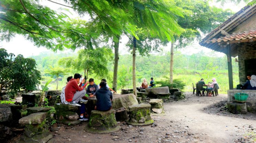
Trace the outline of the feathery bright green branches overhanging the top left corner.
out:
[[[63,50],[64,47],[76,49],[77,39],[87,35],[78,31],[69,17],[59,11],[51,10],[38,0],[0,1],[0,40],[10,41],[16,34],[32,41],[36,46]],[[80,29],[79,29],[80,30]]]

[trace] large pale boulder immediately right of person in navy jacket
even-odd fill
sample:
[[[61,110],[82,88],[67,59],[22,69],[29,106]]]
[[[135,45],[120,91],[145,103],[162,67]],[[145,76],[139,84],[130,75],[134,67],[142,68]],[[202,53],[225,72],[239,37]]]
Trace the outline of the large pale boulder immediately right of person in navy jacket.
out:
[[[138,104],[134,94],[113,94],[112,109],[124,107],[129,112],[129,106]]]

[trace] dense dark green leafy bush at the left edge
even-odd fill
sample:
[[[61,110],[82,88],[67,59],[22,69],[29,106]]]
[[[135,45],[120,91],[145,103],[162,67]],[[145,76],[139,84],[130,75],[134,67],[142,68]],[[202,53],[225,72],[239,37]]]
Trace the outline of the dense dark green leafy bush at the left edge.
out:
[[[41,80],[40,71],[36,70],[36,62],[32,58],[15,56],[0,49],[0,94],[2,89],[14,94],[24,90],[36,90]]]

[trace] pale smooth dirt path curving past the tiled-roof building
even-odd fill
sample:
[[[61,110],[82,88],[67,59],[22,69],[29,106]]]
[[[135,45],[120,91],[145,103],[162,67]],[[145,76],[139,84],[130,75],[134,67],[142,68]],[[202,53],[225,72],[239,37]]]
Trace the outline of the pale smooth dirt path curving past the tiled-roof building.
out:
[[[179,120],[195,132],[202,134],[206,142],[232,142],[234,136],[243,135],[239,128],[254,125],[256,120],[212,115],[202,112],[204,107],[225,100],[226,94],[214,97],[194,97],[188,95],[188,100],[180,103],[165,104],[168,120]],[[235,127],[235,126],[238,126]],[[201,135],[201,136],[202,136]],[[205,142],[204,141],[204,142]]]

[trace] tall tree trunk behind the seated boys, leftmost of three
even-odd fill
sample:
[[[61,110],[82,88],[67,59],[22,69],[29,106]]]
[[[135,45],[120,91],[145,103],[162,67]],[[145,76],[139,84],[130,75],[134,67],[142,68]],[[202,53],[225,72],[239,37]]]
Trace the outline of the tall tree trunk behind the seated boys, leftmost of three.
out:
[[[118,41],[114,41],[114,49],[115,49],[115,60],[114,60],[114,73],[113,73],[113,90],[116,92],[117,90],[117,71],[118,71],[118,61],[119,61],[119,39],[120,36],[116,36]]]

